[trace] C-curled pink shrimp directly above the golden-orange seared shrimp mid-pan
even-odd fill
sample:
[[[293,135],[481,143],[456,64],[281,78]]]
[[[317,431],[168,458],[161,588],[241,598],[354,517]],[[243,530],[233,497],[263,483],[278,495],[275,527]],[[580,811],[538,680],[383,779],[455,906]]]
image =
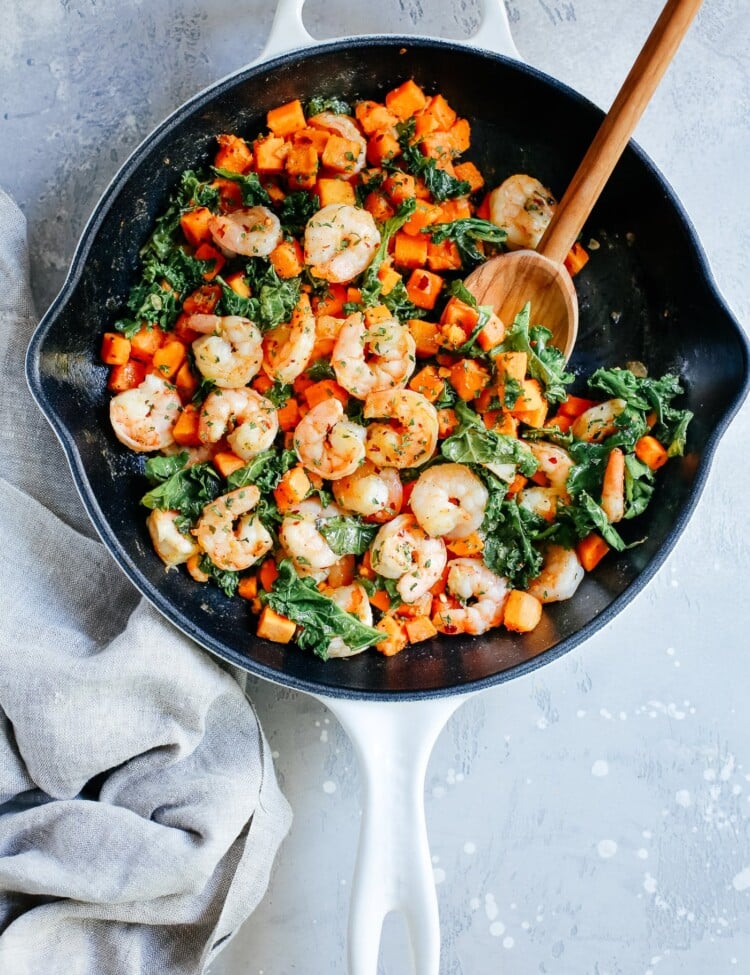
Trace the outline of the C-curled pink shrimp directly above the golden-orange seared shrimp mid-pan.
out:
[[[357,399],[406,385],[416,364],[416,343],[395,318],[366,325],[360,312],[345,319],[331,353],[336,379]],[[369,355],[368,355],[369,353]]]

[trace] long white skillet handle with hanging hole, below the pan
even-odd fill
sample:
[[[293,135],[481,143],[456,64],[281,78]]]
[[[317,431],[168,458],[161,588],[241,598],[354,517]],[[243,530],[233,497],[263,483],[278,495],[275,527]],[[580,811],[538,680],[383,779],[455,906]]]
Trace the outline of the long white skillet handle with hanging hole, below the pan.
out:
[[[349,907],[349,975],[376,975],[383,921],[404,914],[416,975],[438,975],[440,921],[424,815],[427,762],[466,696],[418,702],[320,697],[350,737],[363,814]]]

